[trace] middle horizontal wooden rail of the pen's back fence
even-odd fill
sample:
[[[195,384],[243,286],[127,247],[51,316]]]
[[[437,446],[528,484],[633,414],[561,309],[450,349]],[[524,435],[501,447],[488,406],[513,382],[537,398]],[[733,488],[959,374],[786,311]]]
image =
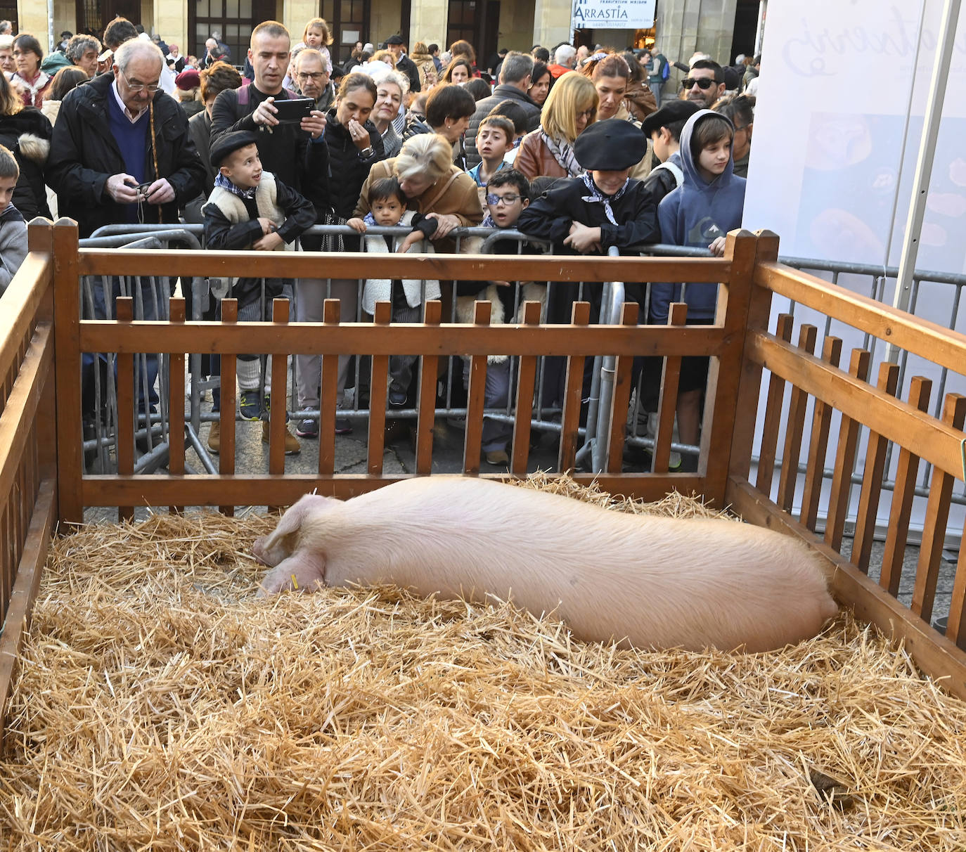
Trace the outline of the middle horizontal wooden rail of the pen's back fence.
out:
[[[118,326],[113,320],[84,320],[80,324],[82,349],[138,353],[187,352],[198,340],[211,351],[229,354],[271,352],[281,343],[303,355],[721,355],[733,335],[715,326],[575,326],[534,327],[522,335],[514,326],[472,327],[461,323],[426,326],[412,323],[378,333],[371,324],[343,323],[320,334],[313,324],[292,323],[273,328],[269,323],[238,323],[224,327],[213,322],[191,322],[172,327],[140,320]]]

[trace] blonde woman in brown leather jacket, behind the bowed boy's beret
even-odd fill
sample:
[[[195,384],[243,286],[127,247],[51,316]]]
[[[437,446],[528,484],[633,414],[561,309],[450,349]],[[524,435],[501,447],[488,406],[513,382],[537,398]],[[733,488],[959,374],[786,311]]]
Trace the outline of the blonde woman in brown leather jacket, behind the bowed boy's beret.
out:
[[[534,178],[579,178],[584,169],[573,145],[597,120],[600,99],[594,84],[578,73],[562,74],[540,113],[540,127],[524,136],[515,167]]]

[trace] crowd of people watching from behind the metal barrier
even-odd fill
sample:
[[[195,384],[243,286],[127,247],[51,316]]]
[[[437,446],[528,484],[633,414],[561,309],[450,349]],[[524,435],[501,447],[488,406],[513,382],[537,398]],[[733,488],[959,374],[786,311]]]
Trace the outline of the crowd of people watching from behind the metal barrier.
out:
[[[676,97],[663,97],[671,63],[649,50],[534,45],[528,53],[501,50],[484,69],[467,42],[446,51],[418,42],[410,52],[393,35],[378,50],[356,43],[339,64],[322,18],[309,20],[293,41],[282,24],[266,21],[236,67],[217,34],[195,60],[116,18],[102,41],[64,33],[57,51],[63,67],[49,74],[37,39],[0,35],[0,287],[26,251],[24,218],[36,214],[71,216],[81,237],[115,222],[202,222],[210,247],[255,250],[290,249],[301,238],[309,250],[451,251],[454,229],[483,225],[518,229],[560,253],[634,252],[661,241],[720,254],[725,234],[740,226],[758,58],[727,68],[705,54],[673,63],[686,76]],[[13,67],[5,64],[5,45]],[[316,224],[348,229],[307,235]],[[398,238],[369,233],[387,225],[405,230]],[[518,250],[517,241],[497,241],[497,251]],[[536,249],[525,243],[523,250]],[[361,282],[327,282],[325,270],[264,284],[238,278],[229,292],[239,300],[239,319],[250,321],[270,320],[271,297],[294,293],[295,319],[303,322],[322,319],[327,292],[341,301],[343,317],[360,308],[371,314],[377,300],[388,299],[396,322],[417,322],[429,298],[455,303],[467,320],[472,300],[485,298],[507,322],[524,299],[536,298],[549,321],[569,322],[577,298],[576,285],[548,294],[532,282],[383,275]],[[642,322],[667,322],[669,303],[681,298],[689,322],[713,320],[713,285],[686,286],[682,295],[679,284],[650,282],[645,298],[643,284],[629,284],[645,308]],[[144,279],[139,286],[153,285]],[[599,300],[595,288],[590,298]],[[143,303],[149,308],[156,299]],[[208,316],[217,317],[219,307],[215,299]],[[102,294],[94,311],[110,313]],[[319,358],[296,354],[296,361],[299,407],[317,409]],[[86,360],[86,369],[95,363]],[[414,365],[409,355],[391,358],[390,409],[412,405]],[[149,365],[148,386],[156,366]],[[348,356],[340,358],[340,396],[348,367]],[[687,443],[698,440],[707,368],[706,358],[682,365],[677,413]],[[215,375],[216,359],[204,369]],[[654,412],[660,363],[642,359],[638,370],[640,401]],[[553,402],[562,375],[547,372]],[[240,355],[238,383],[241,417],[261,421],[268,440],[265,359]],[[509,365],[497,359],[488,370],[487,406],[506,405],[509,388]],[[149,390],[141,404],[156,402]],[[213,405],[218,411],[217,392]],[[214,452],[217,425],[208,439]],[[317,418],[293,423],[286,452],[298,452],[298,439],[318,431]],[[339,416],[336,432],[350,431],[351,420]],[[485,460],[505,464],[508,440],[505,425],[488,418]],[[690,464],[682,461],[685,469]]]

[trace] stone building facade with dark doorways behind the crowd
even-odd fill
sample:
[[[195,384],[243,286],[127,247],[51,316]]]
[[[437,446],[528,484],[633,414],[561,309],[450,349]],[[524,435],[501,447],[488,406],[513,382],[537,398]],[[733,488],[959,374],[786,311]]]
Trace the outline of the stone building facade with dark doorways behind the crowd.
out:
[[[147,32],[177,43],[183,54],[200,55],[205,40],[217,32],[241,64],[252,28],[260,21],[282,21],[298,39],[305,21],[321,15],[332,27],[333,59],[344,61],[356,41],[380,43],[399,33],[410,45],[440,47],[466,39],[486,60],[499,47],[529,50],[561,42],[617,48],[656,44],[669,60],[686,61],[695,50],[729,63],[736,53],[752,53],[763,0],[657,0],[655,25],[649,30],[578,30],[570,28],[571,0],[53,0],[53,33],[64,30],[99,33],[123,14]],[[19,31],[47,42],[47,3],[43,0],[0,2]],[[15,14],[14,14],[15,13]]]

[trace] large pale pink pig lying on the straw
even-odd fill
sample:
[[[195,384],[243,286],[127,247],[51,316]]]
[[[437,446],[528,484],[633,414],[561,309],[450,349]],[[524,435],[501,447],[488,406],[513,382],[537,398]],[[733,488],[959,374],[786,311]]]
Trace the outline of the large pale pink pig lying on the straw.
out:
[[[255,556],[260,595],[395,584],[496,596],[622,647],[766,651],[837,611],[800,541],[724,520],[630,515],[493,480],[427,476],[349,500],[301,497]]]

